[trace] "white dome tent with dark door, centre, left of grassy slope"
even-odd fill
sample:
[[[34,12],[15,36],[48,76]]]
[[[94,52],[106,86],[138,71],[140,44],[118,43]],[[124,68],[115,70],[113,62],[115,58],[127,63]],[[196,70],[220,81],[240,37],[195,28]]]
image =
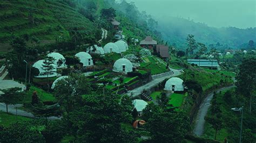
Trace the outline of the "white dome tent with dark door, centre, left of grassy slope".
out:
[[[132,71],[132,63],[127,59],[118,59],[114,62],[113,71],[115,72],[131,72]]]

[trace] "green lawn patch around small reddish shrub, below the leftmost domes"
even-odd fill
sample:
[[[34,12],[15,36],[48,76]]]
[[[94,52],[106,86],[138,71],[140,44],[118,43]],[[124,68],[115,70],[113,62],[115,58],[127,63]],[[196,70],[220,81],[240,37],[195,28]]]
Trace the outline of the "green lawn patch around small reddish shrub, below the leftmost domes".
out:
[[[52,94],[47,93],[43,89],[31,86],[30,90],[26,92],[26,97],[23,102],[31,102],[31,96],[33,95],[33,91],[37,91],[38,97],[41,99],[42,102],[55,101],[55,97]]]

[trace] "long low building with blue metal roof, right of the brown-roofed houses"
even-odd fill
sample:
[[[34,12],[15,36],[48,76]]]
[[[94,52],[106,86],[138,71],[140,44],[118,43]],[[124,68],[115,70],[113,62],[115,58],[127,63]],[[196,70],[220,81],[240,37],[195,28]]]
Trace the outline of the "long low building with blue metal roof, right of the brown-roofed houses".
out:
[[[197,65],[199,67],[219,67],[217,60],[205,60],[205,59],[187,59],[187,62],[190,64]]]

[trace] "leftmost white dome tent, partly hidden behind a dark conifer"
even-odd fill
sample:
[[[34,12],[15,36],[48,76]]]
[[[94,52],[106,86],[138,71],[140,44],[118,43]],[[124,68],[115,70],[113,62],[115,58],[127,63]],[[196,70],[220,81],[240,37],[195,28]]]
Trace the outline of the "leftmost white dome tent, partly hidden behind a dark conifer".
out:
[[[39,70],[39,74],[35,77],[38,78],[45,78],[45,77],[54,77],[57,76],[57,68],[54,64],[52,64],[52,66],[54,67],[54,69],[52,69],[52,73],[49,75],[44,75],[45,70],[43,69],[43,65],[44,65],[44,60],[39,60],[37,62],[35,62],[33,64],[33,67],[37,68]]]

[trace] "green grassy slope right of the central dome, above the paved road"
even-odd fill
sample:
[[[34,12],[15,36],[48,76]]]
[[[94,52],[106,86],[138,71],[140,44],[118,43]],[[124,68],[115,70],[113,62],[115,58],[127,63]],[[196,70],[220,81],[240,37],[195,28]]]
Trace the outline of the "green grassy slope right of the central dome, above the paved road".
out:
[[[166,66],[163,63],[156,61],[153,56],[144,58],[144,60],[147,62],[140,63],[140,67],[151,69],[152,75],[161,74],[169,71],[169,69],[166,69]]]

